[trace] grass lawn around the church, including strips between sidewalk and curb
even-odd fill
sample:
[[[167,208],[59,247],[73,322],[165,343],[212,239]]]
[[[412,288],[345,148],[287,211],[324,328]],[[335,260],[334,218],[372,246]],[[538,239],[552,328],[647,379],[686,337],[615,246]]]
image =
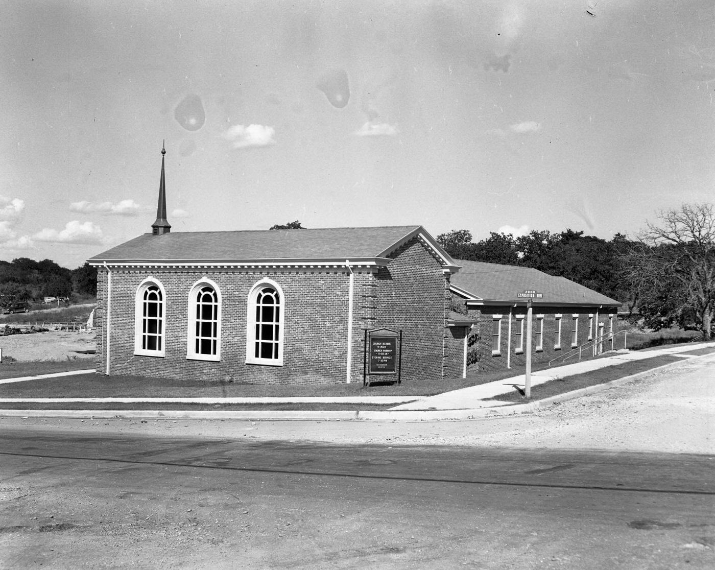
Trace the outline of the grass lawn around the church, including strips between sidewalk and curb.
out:
[[[696,348],[686,354],[704,355],[715,353],[715,348]],[[608,355],[604,355],[608,356]],[[599,357],[600,358],[600,357]],[[659,355],[646,360],[633,360],[619,365],[608,366],[600,370],[583,373],[579,375],[567,376],[552,380],[551,382],[534,386],[531,390],[532,400],[548,398],[552,395],[571,392],[586,386],[606,383],[617,378],[623,378],[631,374],[643,372],[651,368],[684,360],[672,355]],[[44,370],[33,368],[33,374],[41,371],[49,372],[54,366],[67,367],[75,365],[81,369],[81,365],[76,362],[67,363],[26,363],[45,367]],[[11,366],[17,366],[14,363]],[[546,365],[539,365],[533,368],[543,370]],[[66,369],[66,368],[65,368]],[[60,371],[60,370],[53,370]],[[0,372],[4,368],[0,366]],[[256,398],[256,397],[277,397],[290,398],[294,396],[372,396],[372,395],[415,395],[427,396],[450,390],[459,390],[468,386],[503,380],[513,376],[523,374],[522,369],[501,370],[494,373],[480,373],[470,378],[445,379],[445,380],[423,380],[403,382],[398,385],[371,385],[363,387],[362,381],[351,384],[332,385],[253,385],[237,384],[212,381],[182,381],[165,378],[145,378],[142,376],[103,376],[97,374],[82,374],[65,376],[60,378],[47,378],[40,380],[30,380],[28,382],[18,382],[0,385],[0,398]],[[30,373],[18,374],[30,375]],[[9,376],[4,375],[5,378]],[[525,398],[518,392],[508,393],[493,398],[499,401],[510,401],[513,403],[523,403]],[[384,410],[392,405],[365,405],[365,404],[312,404],[312,403],[291,403],[291,404],[99,404],[99,403],[71,403],[68,405],[58,404],[0,404],[6,409],[93,409],[93,410],[117,410],[117,409],[154,409],[154,410]]]

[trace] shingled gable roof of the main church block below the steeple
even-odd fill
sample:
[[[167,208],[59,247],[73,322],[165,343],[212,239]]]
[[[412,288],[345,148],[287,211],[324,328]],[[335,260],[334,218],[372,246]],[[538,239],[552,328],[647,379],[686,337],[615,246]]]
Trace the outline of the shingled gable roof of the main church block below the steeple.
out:
[[[413,237],[445,268],[458,265],[422,226],[328,227],[315,230],[245,230],[144,234],[90,258],[113,264],[312,264],[366,262],[386,265],[391,252]]]

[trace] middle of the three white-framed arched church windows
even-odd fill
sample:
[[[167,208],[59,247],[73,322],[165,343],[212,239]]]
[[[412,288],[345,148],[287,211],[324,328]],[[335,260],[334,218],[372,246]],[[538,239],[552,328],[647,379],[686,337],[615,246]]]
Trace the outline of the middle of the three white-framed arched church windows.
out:
[[[189,293],[186,358],[221,360],[221,290],[207,277]]]

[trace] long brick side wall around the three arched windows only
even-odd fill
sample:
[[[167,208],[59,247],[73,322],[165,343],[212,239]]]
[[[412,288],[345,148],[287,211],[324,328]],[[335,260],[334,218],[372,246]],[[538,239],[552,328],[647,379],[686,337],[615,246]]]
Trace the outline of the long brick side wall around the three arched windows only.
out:
[[[146,277],[166,291],[164,358],[134,355],[134,299]],[[221,360],[187,360],[187,311],[194,282],[207,277],[222,296]],[[246,313],[250,290],[264,277],[283,290],[283,366],[247,365]],[[98,303],[104,308],[107,274],[99,271]],[[104,372],[106,318],[99,311],[98,370]],[[315,339],[306,343],[305,339]],[[345,273],[142,271],[112,272],[111,374],[159,378],[232,380],[252,383],[337,383],[345,381],[347,275]]]

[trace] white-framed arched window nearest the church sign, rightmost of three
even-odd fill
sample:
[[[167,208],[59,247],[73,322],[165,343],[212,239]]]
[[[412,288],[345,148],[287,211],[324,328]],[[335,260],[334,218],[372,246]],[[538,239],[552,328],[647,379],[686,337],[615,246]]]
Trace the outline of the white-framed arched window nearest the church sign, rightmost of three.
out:
[[[248,295],[246,363],[283,365],[285,296],[272,279],[257,282]]]

